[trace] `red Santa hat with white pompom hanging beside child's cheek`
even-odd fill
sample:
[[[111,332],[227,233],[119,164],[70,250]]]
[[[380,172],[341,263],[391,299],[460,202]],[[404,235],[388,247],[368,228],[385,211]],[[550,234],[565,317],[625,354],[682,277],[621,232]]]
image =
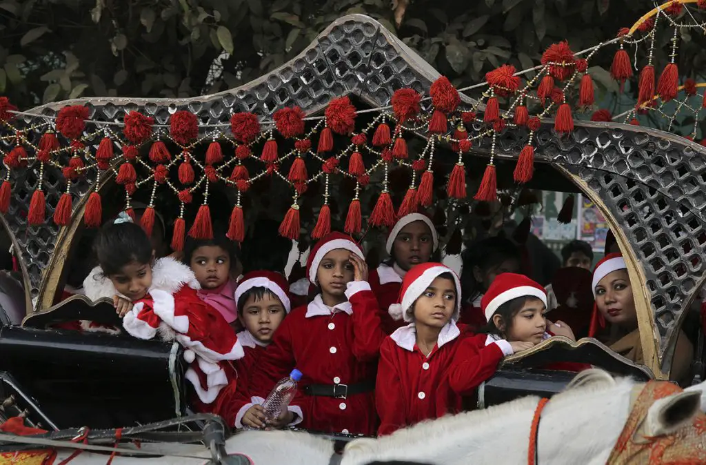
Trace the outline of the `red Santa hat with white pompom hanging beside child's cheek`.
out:
[[[412,308],[414,302],[424,293],[426,288],[431,286],[431,283],[443,273],[450,273],[456,286],[456,307],[451,319],[457,321],[461,310],[461,282],[456,273],[448,266],[433,262],[413,266],[412,269],[407,271],[405,278],[402,279],[400,296],[397,298],[400,303],[390,305],[388,309],[390,316],[393,319],[405,319],[405,322],[412,322],[412,315],[408,314],[407,311]]]

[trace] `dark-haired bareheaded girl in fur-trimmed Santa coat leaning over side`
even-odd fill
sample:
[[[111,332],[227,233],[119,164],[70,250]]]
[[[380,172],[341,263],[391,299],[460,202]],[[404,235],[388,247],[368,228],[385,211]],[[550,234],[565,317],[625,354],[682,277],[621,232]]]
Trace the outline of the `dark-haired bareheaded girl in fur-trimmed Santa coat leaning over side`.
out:
[[[169,257],[155,260],[144,230],[127,219],[104,226],[94,248],[100,266],[83,283],[86,296],[112,298],[132,336],[184,346],[186,379],[197,397],[193,406],[217,413],[218,399],[236,387],[227,360],[244,353],[222,315],[196,295],[200,286],[193,271]]]

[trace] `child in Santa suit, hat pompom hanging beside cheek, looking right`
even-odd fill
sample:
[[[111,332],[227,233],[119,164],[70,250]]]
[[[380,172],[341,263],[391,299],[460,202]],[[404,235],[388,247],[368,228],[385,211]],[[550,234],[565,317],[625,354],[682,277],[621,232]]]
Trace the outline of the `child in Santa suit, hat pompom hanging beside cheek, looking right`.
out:
[[[398,312],[408,324],[380,348],[379,435],[459,412],[462,396],[472,394],[492,375],[503,357],[498,345],[479,347],[462,337],[464,325],[456,324],[460,290],[456,274],[440,263],[414,266],[405,275],[401,303],[390,307],[390,312]]]

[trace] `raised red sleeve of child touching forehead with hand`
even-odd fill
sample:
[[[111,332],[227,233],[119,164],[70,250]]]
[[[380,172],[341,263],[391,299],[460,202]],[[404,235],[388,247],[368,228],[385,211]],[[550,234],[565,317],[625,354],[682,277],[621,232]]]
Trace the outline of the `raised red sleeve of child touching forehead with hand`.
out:
[[[366,361],[378,357],[387,334],[380,322],[378,300],[371,290],[360,290],[348,299],[353,307],[353,354]]]

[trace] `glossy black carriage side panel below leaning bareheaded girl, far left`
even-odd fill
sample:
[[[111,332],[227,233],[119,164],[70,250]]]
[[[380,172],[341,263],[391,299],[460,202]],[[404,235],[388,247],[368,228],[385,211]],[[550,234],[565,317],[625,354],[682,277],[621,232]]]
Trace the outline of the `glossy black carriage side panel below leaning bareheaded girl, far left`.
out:
[[[118,428],[184,413],[184,349],[78,331],[0,328],[0,371],[59,428]]]

